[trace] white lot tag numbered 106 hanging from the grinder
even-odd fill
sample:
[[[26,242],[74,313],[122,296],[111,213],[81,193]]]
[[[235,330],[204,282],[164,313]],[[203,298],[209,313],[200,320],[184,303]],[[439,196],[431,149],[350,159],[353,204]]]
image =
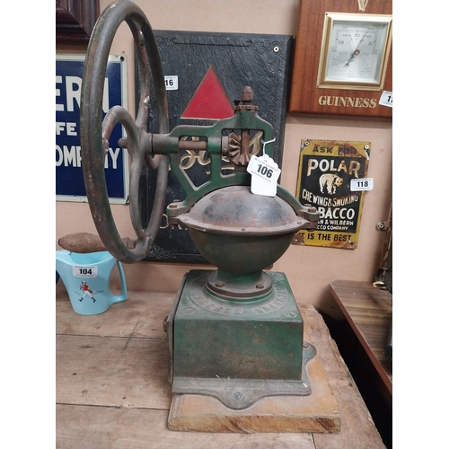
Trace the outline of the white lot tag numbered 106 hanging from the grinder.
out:
[[[276,196],[277,179],[281,171],[268,154],[251,156],[246,171],[251,173],[251,193],[265,197]]]

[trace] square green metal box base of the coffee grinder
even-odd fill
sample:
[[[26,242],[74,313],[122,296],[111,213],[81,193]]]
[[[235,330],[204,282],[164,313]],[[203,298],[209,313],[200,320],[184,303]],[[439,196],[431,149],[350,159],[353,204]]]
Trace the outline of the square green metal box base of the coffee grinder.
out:
[[[174,377],[301,380],[304,325],[283,273],[260,300],[226,300],[192,270],[173,323]]]

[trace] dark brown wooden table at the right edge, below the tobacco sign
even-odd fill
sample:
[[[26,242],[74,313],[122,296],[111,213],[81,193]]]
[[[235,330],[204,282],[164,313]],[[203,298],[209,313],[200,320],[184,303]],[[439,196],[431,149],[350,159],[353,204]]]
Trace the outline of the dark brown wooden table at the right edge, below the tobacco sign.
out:
[[[357,383],[387,448],[392,447],[392,361],[385,357],[392,326],[392,295],[370,282],[338,280],[330,293],[342,320],[331,335]]]

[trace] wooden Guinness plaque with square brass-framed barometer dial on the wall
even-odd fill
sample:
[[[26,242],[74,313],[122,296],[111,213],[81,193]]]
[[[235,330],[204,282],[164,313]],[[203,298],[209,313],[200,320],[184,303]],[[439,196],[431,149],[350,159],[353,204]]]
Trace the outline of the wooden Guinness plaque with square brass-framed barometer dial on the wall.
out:
[[[392,1],[302,0],[290,112],[392,117]]]

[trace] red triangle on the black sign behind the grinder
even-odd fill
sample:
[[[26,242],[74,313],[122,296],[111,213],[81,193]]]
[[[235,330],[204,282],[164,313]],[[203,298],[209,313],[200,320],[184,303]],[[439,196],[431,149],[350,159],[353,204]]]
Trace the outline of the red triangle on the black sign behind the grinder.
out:
[[[218,81],[216,72],[210,66],[180,118],[219,120],[232,116],[231,101]]]

